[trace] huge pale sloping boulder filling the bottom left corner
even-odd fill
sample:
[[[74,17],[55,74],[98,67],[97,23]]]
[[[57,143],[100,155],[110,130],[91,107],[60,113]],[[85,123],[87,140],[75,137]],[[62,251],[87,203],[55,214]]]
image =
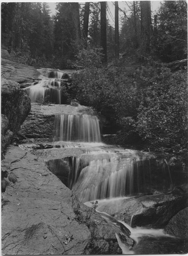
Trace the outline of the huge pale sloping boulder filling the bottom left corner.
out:
[[[9,146],[2,168],[3,254],[120,254],[115,232],[40,157]]]

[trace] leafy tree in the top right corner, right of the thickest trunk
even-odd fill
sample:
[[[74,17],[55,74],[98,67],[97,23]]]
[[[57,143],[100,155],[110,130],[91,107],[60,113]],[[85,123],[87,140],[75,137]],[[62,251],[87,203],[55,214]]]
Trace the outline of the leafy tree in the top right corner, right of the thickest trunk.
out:
[[[164,62],[187,58],[187,4],[185,1],[165,1],[158,13],[157,36],[152,52]]]

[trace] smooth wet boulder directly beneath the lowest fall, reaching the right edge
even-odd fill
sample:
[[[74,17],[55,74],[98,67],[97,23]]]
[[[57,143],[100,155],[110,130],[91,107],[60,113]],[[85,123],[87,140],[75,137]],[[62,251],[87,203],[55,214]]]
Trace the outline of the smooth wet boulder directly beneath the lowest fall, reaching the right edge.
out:
[[[171,193],[119,199],[99,204],[105,211],[132,227],[164,228],[178,211],[187,206],[188,187],[176,187]]]

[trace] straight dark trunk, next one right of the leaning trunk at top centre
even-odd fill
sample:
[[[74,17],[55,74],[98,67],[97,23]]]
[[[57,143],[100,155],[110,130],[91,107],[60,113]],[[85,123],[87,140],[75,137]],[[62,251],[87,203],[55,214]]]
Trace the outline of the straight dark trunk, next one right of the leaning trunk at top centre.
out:
[[[100,2],[100,46],[103,49],[102,62],[107,62],[106,46],[106,2]]]

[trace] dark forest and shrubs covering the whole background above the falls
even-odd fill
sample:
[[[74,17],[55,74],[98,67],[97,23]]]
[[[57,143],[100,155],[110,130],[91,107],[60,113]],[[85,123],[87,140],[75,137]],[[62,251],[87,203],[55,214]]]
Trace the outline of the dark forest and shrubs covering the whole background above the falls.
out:
[[[187,4],[152,13],[150,1],[127,3],[114,2],[114,25],[108,2],[57,3],[53,16],[47,3],[2,3],[2,48],[26,65],[77,70],[66,93],[105,116],[116,143],[185,164]]]

